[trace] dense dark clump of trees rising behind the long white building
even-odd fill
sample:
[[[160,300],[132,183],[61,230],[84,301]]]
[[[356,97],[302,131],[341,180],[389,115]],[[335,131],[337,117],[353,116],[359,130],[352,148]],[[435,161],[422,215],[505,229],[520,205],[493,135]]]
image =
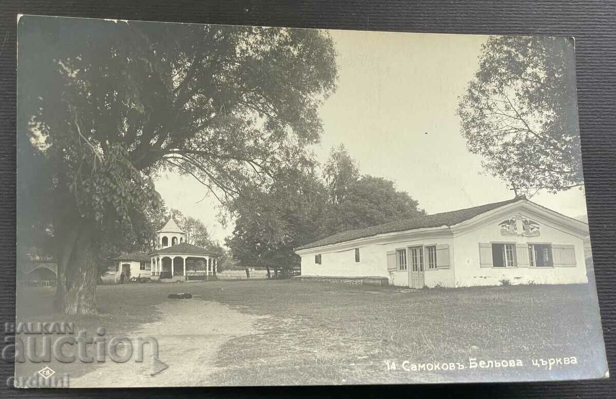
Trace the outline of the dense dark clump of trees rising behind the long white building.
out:
[[[318,173],[315,162],[278,175],[267,191],[238,196],[233,259],[245,267],[289,270],[299,265],[293,249],[335,233],[425,214],[394,182],[360,174],[344,145],[331,150]]]

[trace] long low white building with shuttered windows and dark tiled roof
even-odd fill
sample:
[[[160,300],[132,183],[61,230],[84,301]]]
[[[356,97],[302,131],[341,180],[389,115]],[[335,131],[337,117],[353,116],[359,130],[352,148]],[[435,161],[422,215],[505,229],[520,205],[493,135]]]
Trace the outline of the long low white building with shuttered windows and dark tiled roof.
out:
[[[586,283],[588,224],[525,198],[339,233],[295,250],[302,278],[423,288]]]

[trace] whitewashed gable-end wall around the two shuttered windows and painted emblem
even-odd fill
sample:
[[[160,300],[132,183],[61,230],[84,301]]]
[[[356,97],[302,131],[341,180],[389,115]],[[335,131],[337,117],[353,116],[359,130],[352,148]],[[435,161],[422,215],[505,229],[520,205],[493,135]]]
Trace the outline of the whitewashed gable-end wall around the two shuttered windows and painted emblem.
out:
[[[468,230],[453,239],[455,257],[456,286],[500,285],[501,280],[509,280],[511,284],[568,284],[586,283],[586,265],[584,259],[583,239],[565,228],[544,219],[539,214],[528,211],[521,212],[540,224],[541,235],[524,237],[501,235],[498,223],[502,216],[489,220],[481,227]],[[512,215],[513,216],[513,215]],[[551,243],[553,245],[575,246],[574,267],[480,267],[479,243],[516,244]]]

